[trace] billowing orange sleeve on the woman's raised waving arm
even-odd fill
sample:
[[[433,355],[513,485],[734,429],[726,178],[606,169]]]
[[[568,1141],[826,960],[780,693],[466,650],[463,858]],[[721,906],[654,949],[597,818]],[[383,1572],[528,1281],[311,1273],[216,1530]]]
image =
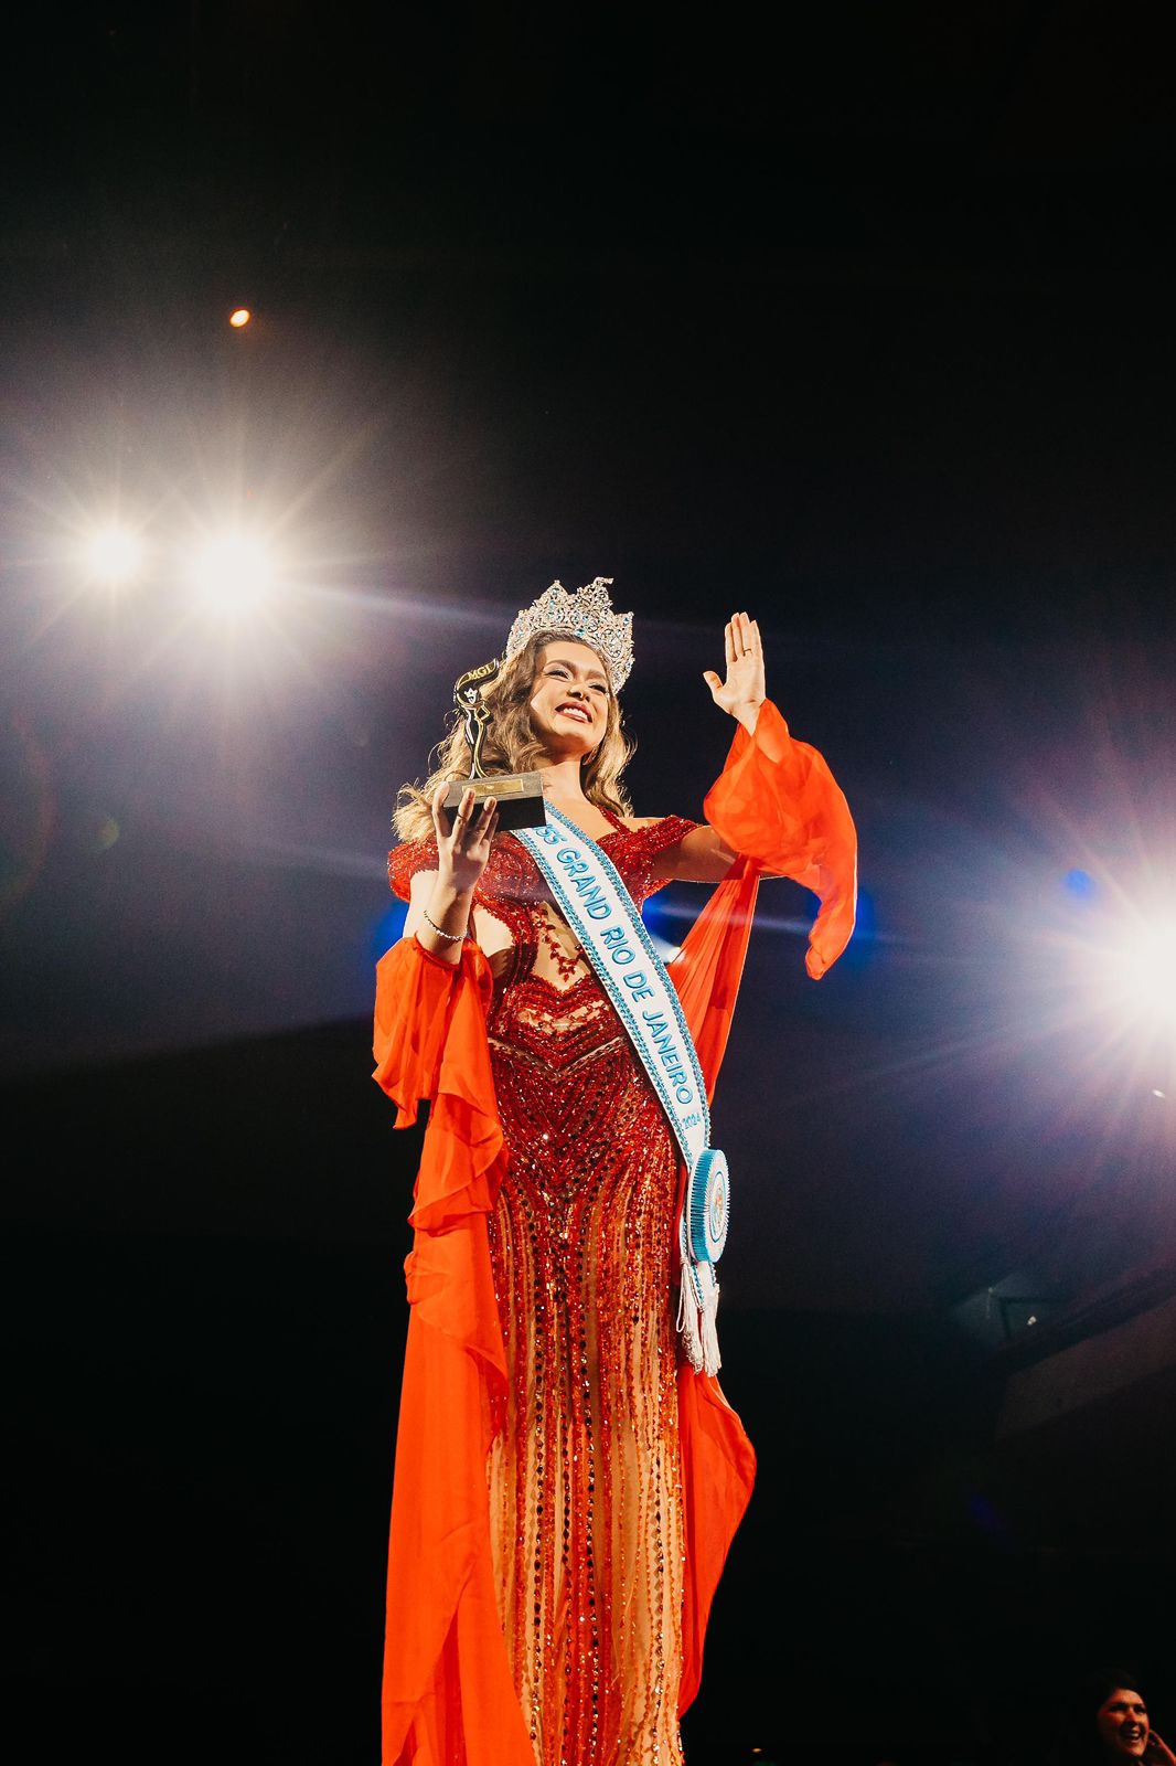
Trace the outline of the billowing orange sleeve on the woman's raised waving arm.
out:
[[[736,729],[705,814],[731,851],[819,897],[805,957],[809,975],[819,980],[853,932],[858,835],[823,756],[793,740],[770,699],[759,706],[754,735],[742,724]]]

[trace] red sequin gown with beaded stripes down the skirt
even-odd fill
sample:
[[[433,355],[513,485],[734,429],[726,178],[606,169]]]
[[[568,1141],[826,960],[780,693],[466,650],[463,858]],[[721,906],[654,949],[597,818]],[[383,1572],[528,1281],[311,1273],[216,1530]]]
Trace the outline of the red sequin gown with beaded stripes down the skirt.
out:
[[[609,819],[600,846],[641,904],[660,887],[653,860],[692,823]],[[394,887],[408,894],[434,862],[431,842],[397,848]],[[510,936],[487,1024],[509,1150],[489,1220],[509,1395],[487,1468],[507,1655],[539,1766],[676,1766],[676,1144],[512,835],[475,906]]]

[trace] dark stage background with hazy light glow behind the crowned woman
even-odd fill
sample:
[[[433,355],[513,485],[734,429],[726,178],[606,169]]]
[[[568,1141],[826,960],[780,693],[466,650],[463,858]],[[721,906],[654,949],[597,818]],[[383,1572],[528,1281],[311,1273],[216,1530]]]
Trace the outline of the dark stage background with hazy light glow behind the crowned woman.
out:
[[[729,740],[701,671],[749,608],[862,835],[818,987],[810,906],[765,887],[720,1088],[724,1381],[761,1478],[690,1766],[1038,1759],[1107,1657],[1176,1729],[1172,1044],[1089,980],[1158,952],[1174,895],[1167,23],[21,19],[28,1757],[378,1757],[415,1164],[367,1079],[388,816],[456,673],[597,572],[636,608],[639,812],[699,812]],[[154,547],[122,595],[78,567],[111,512]],[[184,585],[222,521],[279,558],[253,620]]]

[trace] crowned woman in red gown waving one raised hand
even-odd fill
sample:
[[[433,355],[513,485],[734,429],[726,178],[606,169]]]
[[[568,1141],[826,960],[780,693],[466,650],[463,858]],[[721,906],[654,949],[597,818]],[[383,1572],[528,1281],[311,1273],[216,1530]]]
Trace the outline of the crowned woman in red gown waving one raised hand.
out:
[[[708,821],[637,819],[618,692],[630,615],[606,579],[524,609],[486,706],[489,772],[533,768],[639,904],[720,885],[675,982],[708,1088],[761,869],[823,897],[809,971],[853,925],[853,823],[765,699],[759,630],[726,627],[715,705],[738,728]],[[376,1079],[433,1100],[408,1259],[385,1655],[385,1766],[662,1766],[697,1687],[710,1598],[750,1494],[735,1413],[675,1342],[680,1160],[622,1021],[496,809],[461,728],[406,788],[410,899],[380,964]]]

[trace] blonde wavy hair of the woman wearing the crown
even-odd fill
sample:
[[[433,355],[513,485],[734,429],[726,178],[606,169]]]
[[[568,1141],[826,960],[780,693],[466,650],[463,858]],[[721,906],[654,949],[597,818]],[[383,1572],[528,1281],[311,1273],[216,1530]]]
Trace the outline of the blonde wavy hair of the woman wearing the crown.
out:
[[[544,646],[560,641],[581,643],[569,632],[537,632],[486,689],[482,703],[491,719],[482,740],[482,768],[487,774],[530,772],[544,752],[542,742],[531,729],[531,698]],[[397,793],[392,826],[401,841],[427,841],[434,832],[429,807],[433,793],[440,784],[449,784],[450,779],[470,777],[473,751],[466,742],[464,719],[459,712],[450,713],[449,726],[449,735],[433,749],[436,768],[426,782],[403,784]],[[604,736],[581,765],[581,784],[590,804],[611,809],[614,816],[632,814],[622,774],[632,758],[634,745],[622,729],[620,699],[609,691]]]

